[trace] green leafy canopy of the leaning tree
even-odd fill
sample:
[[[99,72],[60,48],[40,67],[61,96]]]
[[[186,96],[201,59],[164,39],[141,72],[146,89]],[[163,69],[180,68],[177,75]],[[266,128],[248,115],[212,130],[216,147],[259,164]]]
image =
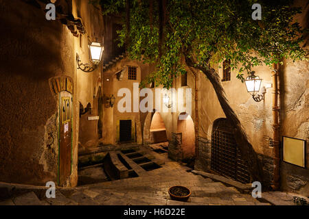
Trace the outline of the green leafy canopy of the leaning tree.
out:
[[[253,21],[252,0],[169,0],[168,23],[164,26],[163,54],[159,58],[159,11],[154,2],[153,23],[150,23],[149,1],[130,1],[130,58],[156,63],[157,71],[141,83],[155,81],[165,88],[175,77],[185,73],[184,55],[196,59],[196,64],[209,67],[222,60],[231,60],[236,76],[253,66],[278,63],[282,58],[304,60],[307,51],[300,47],[304,31],[293,17],[300,13],[293,1],[260,0],[262,21]],[[100,1],[104,14],[124,15],[124,0]],[[119,31],[121,43],[126,40],[126,27]],[[239,68],[239,66],[242,66]]]

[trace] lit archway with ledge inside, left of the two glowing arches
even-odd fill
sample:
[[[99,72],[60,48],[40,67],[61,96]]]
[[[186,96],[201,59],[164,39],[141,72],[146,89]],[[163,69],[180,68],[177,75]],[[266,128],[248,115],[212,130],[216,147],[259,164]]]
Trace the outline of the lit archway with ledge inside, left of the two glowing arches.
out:
[[[159,112],[149,113],[144,124],[144,143],[156,144],[167,142],[166,128]]]

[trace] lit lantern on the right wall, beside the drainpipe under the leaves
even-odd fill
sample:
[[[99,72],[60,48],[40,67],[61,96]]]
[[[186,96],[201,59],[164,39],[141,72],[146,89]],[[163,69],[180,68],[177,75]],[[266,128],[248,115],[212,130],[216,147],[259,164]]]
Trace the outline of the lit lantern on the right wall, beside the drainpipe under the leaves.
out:
[[[260,102],[264,99],[264,93],[266,92],[266,90],[263,88],[263,94],[259,93],[262,79],[260,79],[260,77],[258,76],[255,76],[254,74],[254,71],[248,73],[248,77],[246,78],[244,83],[246,84],[247,91],[253,97],[253,100],[256,102]]]

